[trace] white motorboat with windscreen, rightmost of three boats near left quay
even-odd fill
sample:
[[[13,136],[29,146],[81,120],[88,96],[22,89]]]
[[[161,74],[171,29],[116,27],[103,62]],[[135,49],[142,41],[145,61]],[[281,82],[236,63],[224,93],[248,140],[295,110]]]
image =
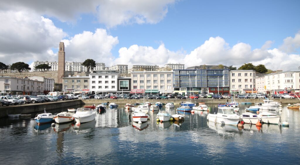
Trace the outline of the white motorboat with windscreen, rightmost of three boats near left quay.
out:
[[[85,123],[95,120],[96,112],[91,108],[77,108],[73,115],[76,123]]]

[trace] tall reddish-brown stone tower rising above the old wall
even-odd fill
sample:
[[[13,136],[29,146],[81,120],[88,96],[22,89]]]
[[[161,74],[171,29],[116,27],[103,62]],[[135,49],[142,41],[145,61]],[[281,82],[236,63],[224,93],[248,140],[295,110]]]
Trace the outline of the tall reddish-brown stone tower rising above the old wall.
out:
[[[65,53],[64,53],[64,43],[59,43],[58,49],[58,83],[62,84],[62,78],[64,77],[64,69],[65,69]]]

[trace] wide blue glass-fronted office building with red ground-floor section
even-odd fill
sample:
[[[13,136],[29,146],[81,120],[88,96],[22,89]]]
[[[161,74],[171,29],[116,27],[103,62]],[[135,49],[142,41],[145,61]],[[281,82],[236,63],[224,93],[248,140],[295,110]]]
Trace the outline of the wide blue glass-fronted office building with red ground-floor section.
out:
[[[228,69],[173,70],[174,93],[229,93]]]

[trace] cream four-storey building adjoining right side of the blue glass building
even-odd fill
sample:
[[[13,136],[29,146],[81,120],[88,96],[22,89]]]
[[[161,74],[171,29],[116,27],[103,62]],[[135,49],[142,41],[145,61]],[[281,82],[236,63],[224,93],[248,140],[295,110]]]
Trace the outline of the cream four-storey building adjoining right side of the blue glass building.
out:
[[[251,93],[255,89],[254,70],[230,70],[230,93]]]

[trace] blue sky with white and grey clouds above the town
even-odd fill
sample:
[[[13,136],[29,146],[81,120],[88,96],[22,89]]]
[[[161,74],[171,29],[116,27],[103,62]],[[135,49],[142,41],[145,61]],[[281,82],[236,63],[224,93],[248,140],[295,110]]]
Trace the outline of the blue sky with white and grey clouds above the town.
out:
[[[56,61],[64,41],[68,61],[93,58],[107,66],[252,62],[292,69],[300,62],[299,6],[296,0],[11,0],[0,7],[0,38],[17,41],[0,39],[0,60]]]

